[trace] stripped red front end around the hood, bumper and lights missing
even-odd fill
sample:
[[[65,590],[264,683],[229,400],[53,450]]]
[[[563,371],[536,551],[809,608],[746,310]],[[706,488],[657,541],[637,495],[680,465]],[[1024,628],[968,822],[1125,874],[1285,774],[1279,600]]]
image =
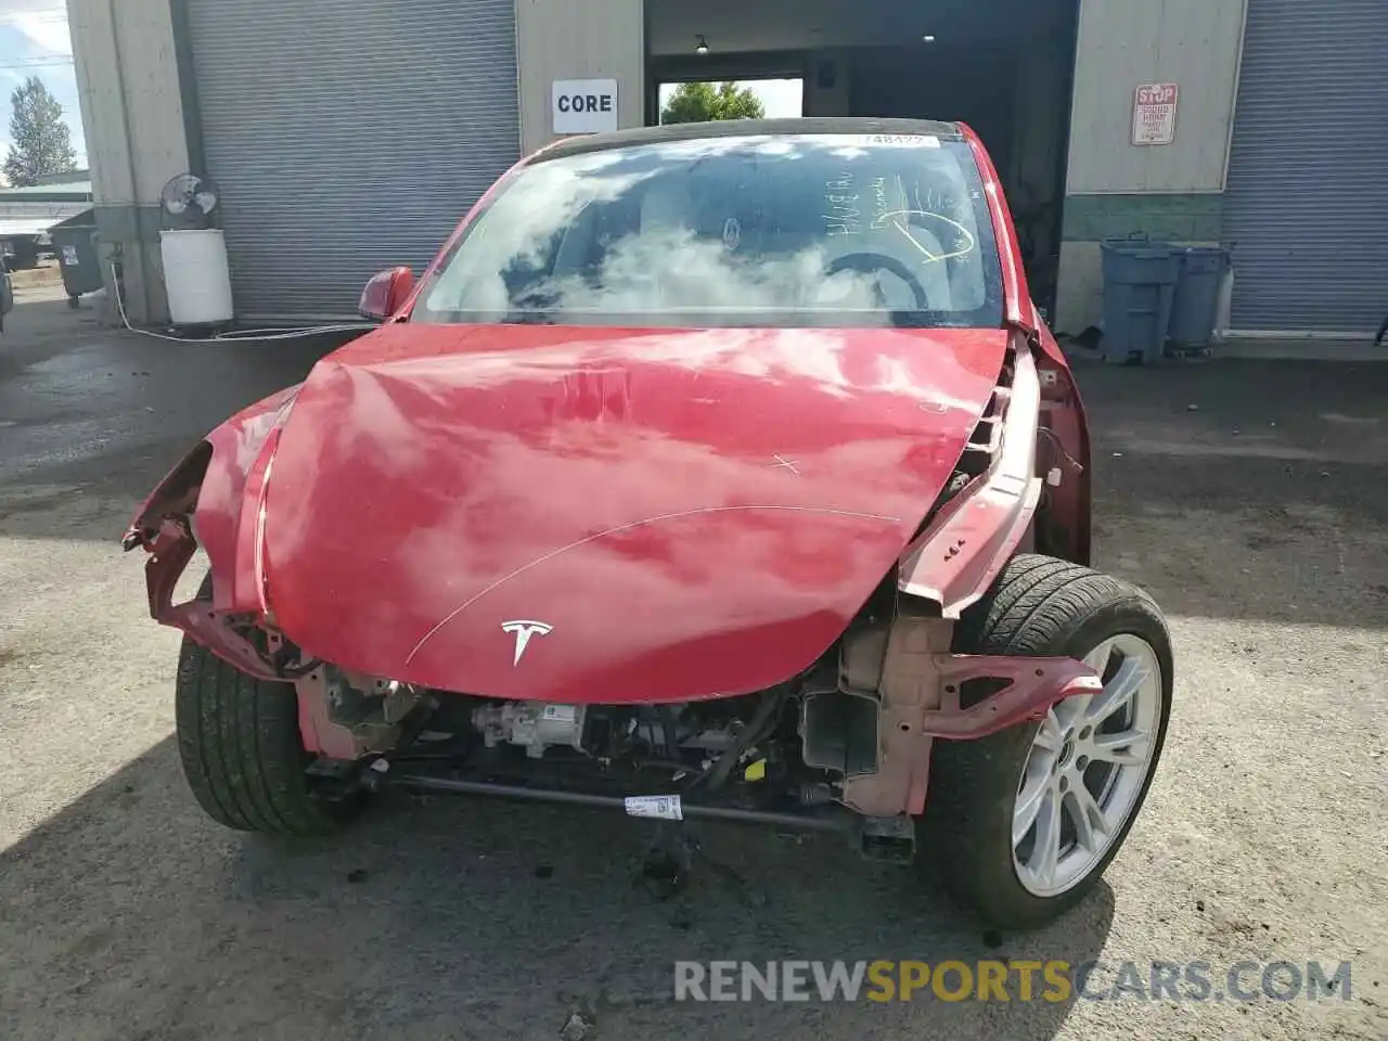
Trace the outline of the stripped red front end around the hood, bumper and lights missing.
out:
[[[264,555],[293,404],[291,389],[210,434],[161,482],[124,544],[150,554],[153,618],[248,676],[294,684],[308,772],[326,799],[391,784],[638,818],[844,829],[869,856],[909,859],[937,740],[985,737],[1099,690],[1095,672],[1070,658],[958,648],[956,622],[1013,554],[1088,552],[1073,386],[1063,371],[1038,369],[1020,336],[954,477],[834,645],[772,688],[675,704],[476,697],[296,647],[276,625]],[[175,602],[200,545],[212,580]]]

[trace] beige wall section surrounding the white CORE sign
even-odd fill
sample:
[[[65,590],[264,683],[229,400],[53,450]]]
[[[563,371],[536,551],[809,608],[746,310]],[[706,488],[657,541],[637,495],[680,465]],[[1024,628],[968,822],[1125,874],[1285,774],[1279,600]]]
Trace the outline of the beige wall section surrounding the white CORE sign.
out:
[[[520,151],[555,139],[555,79],[615,79],[618,126],[645,125],[643,0],[516,0]]]

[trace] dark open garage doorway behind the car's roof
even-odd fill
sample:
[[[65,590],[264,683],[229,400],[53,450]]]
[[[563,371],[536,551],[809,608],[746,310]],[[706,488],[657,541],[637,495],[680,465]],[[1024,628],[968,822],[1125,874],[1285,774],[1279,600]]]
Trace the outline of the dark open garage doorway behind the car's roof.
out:
[[[1078,0],[645,0],[662,86],[801,82],[802,115],[960,121],[983,137],[1053,314]]]

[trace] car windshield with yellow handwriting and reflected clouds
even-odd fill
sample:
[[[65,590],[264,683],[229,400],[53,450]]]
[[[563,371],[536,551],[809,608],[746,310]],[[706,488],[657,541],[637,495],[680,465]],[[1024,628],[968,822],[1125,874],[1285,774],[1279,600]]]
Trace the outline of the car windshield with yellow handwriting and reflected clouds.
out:
[[[418,322],[1001,326],[967,143],[730,136],[541,160],[423,287]]]

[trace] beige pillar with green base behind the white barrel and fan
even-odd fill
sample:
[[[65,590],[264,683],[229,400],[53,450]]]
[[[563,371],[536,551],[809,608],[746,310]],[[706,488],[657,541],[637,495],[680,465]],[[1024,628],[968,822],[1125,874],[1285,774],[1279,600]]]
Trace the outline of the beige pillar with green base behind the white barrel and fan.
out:
[[[135,325],[168,319],[160,192],[189,168],[169,8],[169,0],[68,0],[107,300],[114,312],[110,261],[119,258]]]

